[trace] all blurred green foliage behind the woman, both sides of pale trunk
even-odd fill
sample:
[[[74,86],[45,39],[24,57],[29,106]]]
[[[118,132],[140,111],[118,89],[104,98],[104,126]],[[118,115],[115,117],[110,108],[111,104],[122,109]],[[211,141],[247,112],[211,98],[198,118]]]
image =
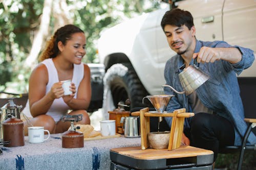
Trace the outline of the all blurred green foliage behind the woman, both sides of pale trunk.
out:
[[[66,3],[68,17],[86,32],[87,55],[83,62],[87,63],[98,62],[97,39],[103,29],[159,7],[157,0],[68,0]],[[35,31],[39,29],[43,8],[44,0],[0,1],[0,91],[9,88],[15,89],[13,92],[26,91],[32,68],[23,68],[23,65],[30,53]],[[57,20],[58,17],[52,14],[49,37],[55,31]]]

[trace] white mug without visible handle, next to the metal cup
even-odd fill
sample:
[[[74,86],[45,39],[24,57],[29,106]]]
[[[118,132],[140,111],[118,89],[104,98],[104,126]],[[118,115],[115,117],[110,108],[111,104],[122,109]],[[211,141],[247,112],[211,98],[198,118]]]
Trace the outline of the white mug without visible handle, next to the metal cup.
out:
[[[100,132],[102,136],[112,136],[116,134],[116,120],[100,121]]]

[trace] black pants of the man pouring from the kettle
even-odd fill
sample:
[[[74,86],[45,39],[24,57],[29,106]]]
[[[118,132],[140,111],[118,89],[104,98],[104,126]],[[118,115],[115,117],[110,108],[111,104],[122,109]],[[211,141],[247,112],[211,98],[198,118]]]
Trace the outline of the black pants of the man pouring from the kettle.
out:
[[[217,114],[197,113],[192,117],[190,129],[184,129],[190,145],[214,151],[214,161],[219,149],[234,144],[234,127]]]

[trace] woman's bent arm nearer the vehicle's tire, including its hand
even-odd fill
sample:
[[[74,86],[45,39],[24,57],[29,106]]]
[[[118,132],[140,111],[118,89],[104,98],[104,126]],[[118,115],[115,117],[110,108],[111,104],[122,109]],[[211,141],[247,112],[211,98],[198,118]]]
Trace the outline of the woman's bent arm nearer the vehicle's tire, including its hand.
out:
[[[90,105],[91,95],[91,71],[89,66],[84,64],[83,79],[78,85],[76,99],[69,100],[71,96],[63,96],[63,100],[73,110],[87,110]]]

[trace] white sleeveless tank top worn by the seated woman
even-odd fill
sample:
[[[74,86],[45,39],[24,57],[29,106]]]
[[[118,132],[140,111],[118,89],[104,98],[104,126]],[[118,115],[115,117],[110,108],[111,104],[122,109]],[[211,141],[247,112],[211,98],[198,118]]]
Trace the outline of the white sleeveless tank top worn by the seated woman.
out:
[[[51,87],[54,83],[59,82],[57,69],[52,61],[52,59],[46,59],[41,62],[42,64],[45,64],[48,71],[48,84],[46,85],[46,93],[48,93],[51,90]],[[75,83],[76,88],[78,88],[84,73],[84,67],[83,63],[77,65],[74,64],[74,70],[73,70],[73,77],[72,77],[72,83]],[[77,91],[75,93],[74,98],[77,96]],[[46,113],[47,115],[50,115],[53,117],[55,122],[58,122],[60,120],[61,115],[67,114],[69,110],[69,106],[63,101],[62,98],[55,99],[52,103],[52,106]],[[33,117],[29,110],[29,101],[26,104],[26,107],[23,110],[24,114],[28,117]]]

